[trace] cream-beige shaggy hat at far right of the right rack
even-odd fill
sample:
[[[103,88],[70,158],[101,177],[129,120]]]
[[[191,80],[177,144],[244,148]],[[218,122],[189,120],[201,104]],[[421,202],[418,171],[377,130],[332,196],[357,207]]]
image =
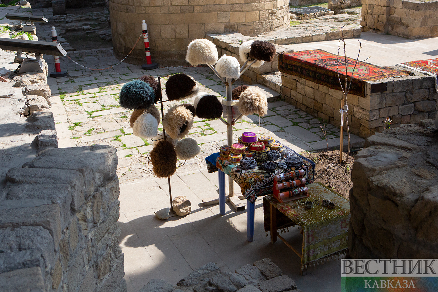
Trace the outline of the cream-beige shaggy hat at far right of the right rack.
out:
[[[268,99],[263,91],[255,86],[250,86],[240,94],[239,111],[245,116],[253,113],[265,116],[268,113]]]

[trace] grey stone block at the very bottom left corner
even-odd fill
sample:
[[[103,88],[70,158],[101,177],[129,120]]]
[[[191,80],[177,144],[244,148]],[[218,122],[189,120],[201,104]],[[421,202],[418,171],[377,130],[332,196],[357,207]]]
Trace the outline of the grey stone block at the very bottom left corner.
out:
[[[29,267],[0,274],[0,291],[46,292],[39,267]]]

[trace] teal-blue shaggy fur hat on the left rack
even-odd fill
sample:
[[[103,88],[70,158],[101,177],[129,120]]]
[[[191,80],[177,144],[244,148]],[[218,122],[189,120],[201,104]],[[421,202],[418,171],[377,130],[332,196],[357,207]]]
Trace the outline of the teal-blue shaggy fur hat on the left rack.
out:
[[[152,87],[140,80],[128,82],[120,90],[119,103],[125,109],[147,109],[154,100]]]

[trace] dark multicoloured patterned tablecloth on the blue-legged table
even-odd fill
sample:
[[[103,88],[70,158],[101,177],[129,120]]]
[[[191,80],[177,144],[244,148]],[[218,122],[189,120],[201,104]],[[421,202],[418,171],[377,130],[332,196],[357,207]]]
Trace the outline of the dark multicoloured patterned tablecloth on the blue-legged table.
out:
[[[303,169],[306,170],[306,175],[304,176],[306,184],[313,183],[315,175],[314,162],[297,154],[295,151],[293,153],[303,159]],[[228,159],[220,156],[219,152],[205,158],[205,162],[207,163],[208,172],[216,172],[220,169],[230,176],[240,186],[244,197],[251,203],[254,203],[258,196],[272,193],[274,176],[281,172],[286,172],[284,169],[279,168],[275,172],[266,172],[265,170],[258,169],[258,166],[251,170],[240,169],[238,164],[228,162]],[[291,168],[288,171],[293,170],[295,169]]]

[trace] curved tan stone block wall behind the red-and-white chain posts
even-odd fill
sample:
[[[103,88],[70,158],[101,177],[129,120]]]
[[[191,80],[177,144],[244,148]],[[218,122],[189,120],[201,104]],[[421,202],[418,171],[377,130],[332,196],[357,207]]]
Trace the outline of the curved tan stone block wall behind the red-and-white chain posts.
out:
[[[110,0],[109,12],[118,59],[134,47],[145,20],[152,61],[169,66],[187,65],[188,44],[206,34],[257,35],[289,26],[288,0]],[[127,60],[145,63],[142,40]]]

